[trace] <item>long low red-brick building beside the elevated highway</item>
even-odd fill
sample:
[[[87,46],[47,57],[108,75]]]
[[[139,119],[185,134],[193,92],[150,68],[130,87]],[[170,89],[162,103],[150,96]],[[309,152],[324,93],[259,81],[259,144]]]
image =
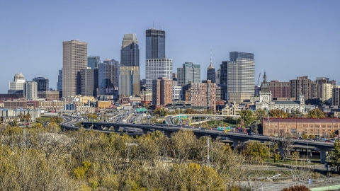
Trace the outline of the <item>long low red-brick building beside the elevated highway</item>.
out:
[[[324,137],[340,129],[339,118],[262,118],[263,135],[280,136],[290,133],[294,137],[305,134]]]

